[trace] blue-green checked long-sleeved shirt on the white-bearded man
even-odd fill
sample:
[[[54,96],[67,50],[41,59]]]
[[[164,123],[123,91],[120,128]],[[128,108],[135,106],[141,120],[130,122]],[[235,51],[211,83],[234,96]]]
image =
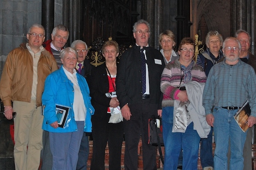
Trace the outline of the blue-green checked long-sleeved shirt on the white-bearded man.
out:
[[[251,115],[256,117],[256,75],[254,69],[240,59],[235,65],[224,61],[212,67],[203,93],[206,115],[216,107],[241,107],[246,100],[251,107]]]

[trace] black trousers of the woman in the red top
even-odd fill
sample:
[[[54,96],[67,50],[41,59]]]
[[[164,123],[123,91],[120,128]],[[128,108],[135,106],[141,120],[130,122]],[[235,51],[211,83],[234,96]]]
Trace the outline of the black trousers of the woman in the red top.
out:
[[[93,153],[91,170],[105,170],[105,148],[108,142],[109,170],[121,169],[121,150],[124,138],[123,122],[108,123],[110,114],[104,118],[92,116]]]

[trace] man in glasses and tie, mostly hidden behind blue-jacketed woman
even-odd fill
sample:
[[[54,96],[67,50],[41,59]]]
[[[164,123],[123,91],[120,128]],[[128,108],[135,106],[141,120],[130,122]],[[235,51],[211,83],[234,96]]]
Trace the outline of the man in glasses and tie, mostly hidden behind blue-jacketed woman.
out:
[[[85,59],[88,53],[87,44],[82,40],[75,40],[72,42],[71,47],[74,48],[78,53],[78,59],[75,68],[76,72],[88,79],[88,76],[91,74],[92,65],[88,59]],[[87,168],[87,160],[89,156],[89,135],[90,133],[87,132],[84,132],[83,134],[78,153],[76,170],[86,170]]]

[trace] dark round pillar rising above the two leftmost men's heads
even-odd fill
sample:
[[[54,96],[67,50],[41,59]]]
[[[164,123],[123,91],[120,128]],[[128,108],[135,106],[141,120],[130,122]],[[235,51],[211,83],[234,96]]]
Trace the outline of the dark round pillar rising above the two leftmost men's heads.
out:
[[[51,39],[54,28],[54,1],[42,0],[42,26],[45,30],[45,40]]]

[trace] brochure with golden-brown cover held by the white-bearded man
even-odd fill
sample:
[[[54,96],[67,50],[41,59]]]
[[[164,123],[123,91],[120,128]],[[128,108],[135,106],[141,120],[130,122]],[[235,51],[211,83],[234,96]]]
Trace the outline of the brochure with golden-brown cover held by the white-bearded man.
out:
[[[249,128],[248,126],[248,117],[251,114],[251,109],[249,105],[249,101],[247,100],[244,105],[234,115],[234,118],[236,120],[236,123],[238,123],[239,127],[246,132],[246,130]]]

